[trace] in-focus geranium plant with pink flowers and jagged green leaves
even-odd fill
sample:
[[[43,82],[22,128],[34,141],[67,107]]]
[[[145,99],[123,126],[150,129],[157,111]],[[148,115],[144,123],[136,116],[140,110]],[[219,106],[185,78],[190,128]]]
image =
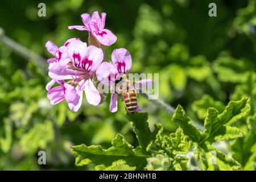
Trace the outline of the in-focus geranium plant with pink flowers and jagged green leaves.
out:
[[[54,56],[48,59],[48,73],[52,80],[46,86],[47,97],[52,105],[67,101],[72,111],[80,109],[84,93],[90,105],[100,105],[104,100],[96,83],[100,82],[110,88],[115,85],[118,75],[126,74],[132,67],[132,56],[125,48],[114,49],[112,60],[105,60],[104,46],[111,46],[117,40],[112,31],[105,29],[106,13],[101,16],[97,11],[92,16],[85,13],[81,18],[84,26],[68,28],[88,31],[88,44],[79,38],[67,40],[60,48],[52,42],[46,44],[47,50]],[[143,80],[139,84],[142,82],[148,86],[152,81]],[[117,111],[117,97],[118,93],[111,93],[111,112]],[[119,133],[109,148],[86,144],[72,146],[75,164],[84,166],[92,163],[98,170],[111,170],[122,165],[137,170],[182,170],[193,169],[193,160],[197,169],[202,170],[240,169],[241,164],[237,160],[218,150],[213,143],[243,136],[232,125],[249,115],[250,99],[244,97],[239,101],[230,101],[226,107],[208,97],[203,99],[193,105],[193,109],[199,111],[198,107],[210,102],[209,108],[204,108],[207,111],[199,112],[200,117],[205,118],[203,130],[194,125],[180,105],[170,117],[170,121],[179,126],[175,133],[163,134],[160,123],[155,123],[154,130],[151,130],[147,122],[148,114],[141,112],[138,106],[134,114],[125,114],[137,137],[138,146],[132,146]],[[255,117],[249,120],[255,120]]]

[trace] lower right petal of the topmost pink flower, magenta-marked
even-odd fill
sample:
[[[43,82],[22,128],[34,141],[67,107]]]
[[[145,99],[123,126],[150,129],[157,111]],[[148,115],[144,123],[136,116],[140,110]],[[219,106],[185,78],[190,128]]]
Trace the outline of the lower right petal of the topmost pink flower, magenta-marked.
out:
[[[117,36],[108,29],[93,32],[93,36],[104,46],[111,46],[115,41],[117,41]]]

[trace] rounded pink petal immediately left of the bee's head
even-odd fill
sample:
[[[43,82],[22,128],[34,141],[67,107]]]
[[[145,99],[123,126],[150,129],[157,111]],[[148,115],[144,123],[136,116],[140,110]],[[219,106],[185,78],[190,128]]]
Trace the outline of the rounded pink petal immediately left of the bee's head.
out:
[[[115,69],[114,65],[109,62],[103,62],[96,70],[96,76],[98,81],[106,86],[115,84],[115,76],[118,71]]]

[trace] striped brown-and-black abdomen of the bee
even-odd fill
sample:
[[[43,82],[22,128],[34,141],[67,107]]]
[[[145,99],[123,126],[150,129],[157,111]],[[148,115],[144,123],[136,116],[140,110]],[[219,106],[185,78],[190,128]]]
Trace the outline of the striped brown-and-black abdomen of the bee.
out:
[[[122,94],[123,101],[125,101],[126,109],[130,113],[135,113],[137,110],[137,95],[134,90],[130,90]]]

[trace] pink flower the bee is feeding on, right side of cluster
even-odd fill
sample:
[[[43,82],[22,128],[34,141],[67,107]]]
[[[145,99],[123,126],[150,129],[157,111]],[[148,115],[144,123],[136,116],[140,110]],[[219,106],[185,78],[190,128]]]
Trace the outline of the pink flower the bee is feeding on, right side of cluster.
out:
[[[114,49],[112,53],[112,63],[103,62],[96,71],[98,80],[106,86],[115,86],[115,81],[119,80],[123,74],[131,69],[131,55],[125,48]],[[134,89],[145,88],[152,85],[152,80],[140,80],[134,83]],[[117,111],[118,93],[114,92],[111,95],[109,110],[110,112]],[[139,105],[137,111],[141,110]]]

